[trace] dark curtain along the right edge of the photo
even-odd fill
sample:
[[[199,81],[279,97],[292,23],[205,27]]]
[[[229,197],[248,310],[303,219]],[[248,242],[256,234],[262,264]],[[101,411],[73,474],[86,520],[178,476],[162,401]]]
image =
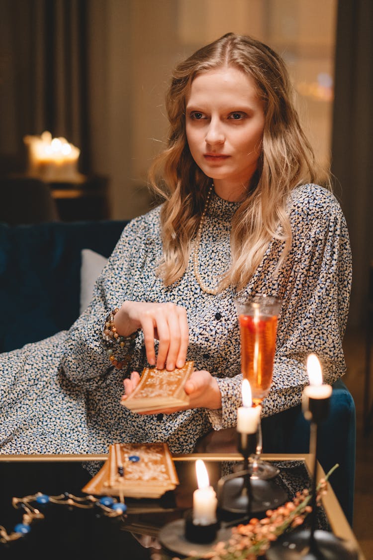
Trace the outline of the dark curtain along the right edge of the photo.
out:
[[[349,325],[366,319],[373,260],[373,2],[338,2],[332,172],[350,231],[353,283]]]

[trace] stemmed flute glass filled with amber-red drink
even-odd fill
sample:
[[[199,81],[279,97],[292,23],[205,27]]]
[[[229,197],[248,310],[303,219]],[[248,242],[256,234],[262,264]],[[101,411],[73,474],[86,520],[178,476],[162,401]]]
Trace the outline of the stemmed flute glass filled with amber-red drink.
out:
[[[261,294],[247,300],[235,301],[241,337],[242,375],[250,383],[254,406],[261,405],[271,388],[277,316],[281,304],[282,300],[279,298]],[[278,469],[260,459],[262,447],[262,427],[259,417],[252,478],[273,478],[278,474]]]

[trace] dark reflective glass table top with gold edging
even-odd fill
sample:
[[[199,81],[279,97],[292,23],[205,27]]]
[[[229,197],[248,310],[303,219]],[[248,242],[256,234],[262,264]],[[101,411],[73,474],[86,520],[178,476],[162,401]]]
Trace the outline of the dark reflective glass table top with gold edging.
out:
[[[192,494],[197,488],[197,458],[204,459],[210,484],[215,488],[223,475],[239,470],[242,465],[238,454],[176,455],[174,464],[180,485],[159,500],[126,499],[126,517],[109,519],[100,515],[98,508],[79,510],[48,504],[41,510],[38,506],[45,519],[34,522],[25,538],[7,545],[0,543],[0,557],[6,560],[24,560],[27,556],[40,560],[96,560],[115,555],[116,558],[150,559],[159,547],[159,530],[183,517],[185,511],[192,507]],[[280,475],[274,483],[285,491],[287,500],[291,500],[297,491],[310,487],[310,456],[277,455],[264,458],[272,460],[280,468]],[[84,496],[81,489],[105,460],[105,455],[0,456],[0,525],[10,533],[21,521],[22,511],[12,507],[12,497],[19,498],[37,492],[49,495],[69,492]],[[320,476],[322,474],[320,470]],[[355,540],[333,492],[328,494],[329,501],[320,508],[319,528],[333,530],[335,534],[339,531],[338,536]]]

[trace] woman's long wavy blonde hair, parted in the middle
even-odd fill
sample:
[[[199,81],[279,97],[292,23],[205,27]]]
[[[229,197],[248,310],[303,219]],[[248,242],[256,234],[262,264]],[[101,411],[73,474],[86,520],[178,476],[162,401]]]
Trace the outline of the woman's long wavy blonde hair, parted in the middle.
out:
[[[301,129],[294,90],[281,57],[260,41],[233,33],[197,50],[174,70],[166,96],[168,144],[149,170],[150,185],[166,199],[160,213],[163,259],[157,269],[166,286],[178,281],[187,268],[211,184],[188,148],[186,96],[197,74],[226,66],[253,78],[265,108],[265,127],[256,176],[232,220],[231,265],[220,280],[219,291],[231,284],[242,289],[273,237],[284,242],[279,267],[291,247],[286,214],[289,193],[304,183],[329,186],[328,175],[316,164]]]

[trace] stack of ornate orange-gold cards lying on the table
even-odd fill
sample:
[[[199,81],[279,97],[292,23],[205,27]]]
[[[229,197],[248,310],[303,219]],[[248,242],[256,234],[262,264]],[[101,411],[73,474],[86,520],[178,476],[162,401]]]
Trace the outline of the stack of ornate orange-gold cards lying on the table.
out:
[[[160,498],[178,484],[167,444],[114,444],[109,447],[108,460],[82,492]]]

